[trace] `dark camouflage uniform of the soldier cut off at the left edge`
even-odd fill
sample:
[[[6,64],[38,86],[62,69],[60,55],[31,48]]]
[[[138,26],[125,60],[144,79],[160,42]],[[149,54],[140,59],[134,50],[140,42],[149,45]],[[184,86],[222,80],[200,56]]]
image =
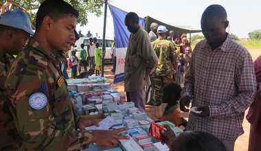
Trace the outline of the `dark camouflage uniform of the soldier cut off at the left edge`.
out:
[[[18,135],[12,114],[5,100],[4,83],[13,60],[14,57],[9,54],[0,58],[0,150],[18,150],[19,144],[21,144],[21,137]]]

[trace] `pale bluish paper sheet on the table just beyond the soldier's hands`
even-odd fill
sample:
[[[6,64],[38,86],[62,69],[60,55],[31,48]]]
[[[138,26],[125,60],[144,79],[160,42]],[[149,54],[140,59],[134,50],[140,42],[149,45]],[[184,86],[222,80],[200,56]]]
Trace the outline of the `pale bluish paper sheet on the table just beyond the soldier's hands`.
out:
[[[111,126],[115,124],[115,120],[111,118],[111,116],[106,117],[102,121],[99,122],[100,126],[89,126],[85,128],[86,130],[109,130]]]

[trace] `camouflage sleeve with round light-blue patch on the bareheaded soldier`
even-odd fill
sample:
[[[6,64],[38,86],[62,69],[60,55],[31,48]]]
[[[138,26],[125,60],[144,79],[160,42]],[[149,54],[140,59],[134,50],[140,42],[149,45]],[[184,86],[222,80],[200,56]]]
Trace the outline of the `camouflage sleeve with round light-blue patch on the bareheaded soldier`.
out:
[[[45,63],[47,62],[43,62]],[[27,150],[80,149],[88,145],[93,136],[88,131],[76,131],[74,119],[63,120],[68,116],[62,116],[60,108],[53,107],[56,103],[55,82],[48,72],[44,65],[25,67],[23,61],[12,65],[5,86],[8,86],[8,95],[12,102],[10,110],[16,128]],[[70,108],[63,110],[69,111]],[[65,127],[66,125],[69,126]]]

